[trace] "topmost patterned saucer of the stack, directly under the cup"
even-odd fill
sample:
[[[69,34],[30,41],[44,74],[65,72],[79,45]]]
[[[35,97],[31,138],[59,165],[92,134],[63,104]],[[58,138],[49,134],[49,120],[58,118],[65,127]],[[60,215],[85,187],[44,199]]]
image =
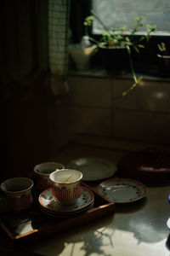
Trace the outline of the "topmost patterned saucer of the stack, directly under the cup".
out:
[[[85,187],[82,187],[82,195],[72,205],[61,205],[53,198],[52,188],[46,189],[39,195],[38,201],[42,208],[49,212],[78,212],[88,207],[94,202],[94,193]]]

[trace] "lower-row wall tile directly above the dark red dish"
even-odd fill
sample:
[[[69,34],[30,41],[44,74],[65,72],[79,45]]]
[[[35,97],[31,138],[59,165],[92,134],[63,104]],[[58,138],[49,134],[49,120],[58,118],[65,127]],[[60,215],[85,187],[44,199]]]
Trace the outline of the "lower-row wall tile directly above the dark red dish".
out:
[[[170,143],[170,115],[116,110],[112,136],[152,143]]]

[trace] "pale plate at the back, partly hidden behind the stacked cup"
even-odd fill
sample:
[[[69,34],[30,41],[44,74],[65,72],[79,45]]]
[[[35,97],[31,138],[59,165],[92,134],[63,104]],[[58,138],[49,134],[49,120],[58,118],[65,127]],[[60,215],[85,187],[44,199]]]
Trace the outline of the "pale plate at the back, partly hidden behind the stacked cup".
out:
[[[71,160],[67,168],[82,172],[82,180],[94,181],[111,177],[116,173],[116,165],[109,160],[97,158],[78,158]]]

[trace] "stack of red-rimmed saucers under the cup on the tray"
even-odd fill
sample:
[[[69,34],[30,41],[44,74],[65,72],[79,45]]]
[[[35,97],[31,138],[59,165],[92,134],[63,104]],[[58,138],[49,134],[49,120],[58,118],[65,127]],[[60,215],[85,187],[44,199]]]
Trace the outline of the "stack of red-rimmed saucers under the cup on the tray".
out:
[[[59,218],[72,218],[86,212],[94,206],[94,194],[82,187],[82,195],[74,204],[61,205],[52,195],[52,188],[44,190],[38,197],[42,212]]]

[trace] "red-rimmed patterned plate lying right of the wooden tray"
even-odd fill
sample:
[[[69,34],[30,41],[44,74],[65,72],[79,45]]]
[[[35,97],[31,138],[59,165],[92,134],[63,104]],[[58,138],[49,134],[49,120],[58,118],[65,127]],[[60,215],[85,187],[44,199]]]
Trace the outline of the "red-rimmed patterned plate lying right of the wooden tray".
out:
[[[107,180],[100,183],[97,190],[99,194],[116,203],[138,201],[147,195],[147,189],[143,183],[129,178]]]

